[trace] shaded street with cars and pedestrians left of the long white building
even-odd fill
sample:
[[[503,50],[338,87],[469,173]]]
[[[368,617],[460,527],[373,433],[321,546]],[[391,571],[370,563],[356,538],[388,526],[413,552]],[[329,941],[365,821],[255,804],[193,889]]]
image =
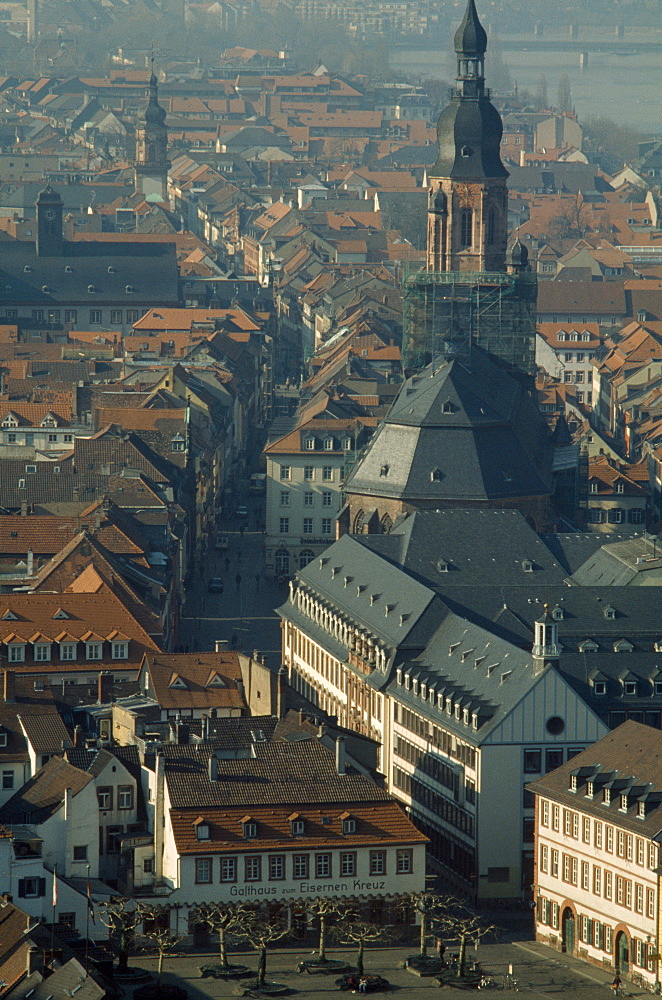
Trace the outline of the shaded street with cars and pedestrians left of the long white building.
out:
[[[262,507],[263,498],[251,501],[251,507]],[[189,589],[183,608],[180,645],[183,649],[210,650],[217,639],[228,642],[245,653],[259,650],[267,657],[272,670],[280,664],[280,619],[275,608],[287,597],[287,586],[264,576],[264,535],[250,530],[254,524],[250,511],[246,529],[241,533],[240,522],[232,518],[233,530],[220,533],[228,536],[228,548],[217,550],[211,539],[201,572]],[[223,593],[211,594],[207,587],[212,577],[223,580]],[[234,639],[234,643],[233,643]]]

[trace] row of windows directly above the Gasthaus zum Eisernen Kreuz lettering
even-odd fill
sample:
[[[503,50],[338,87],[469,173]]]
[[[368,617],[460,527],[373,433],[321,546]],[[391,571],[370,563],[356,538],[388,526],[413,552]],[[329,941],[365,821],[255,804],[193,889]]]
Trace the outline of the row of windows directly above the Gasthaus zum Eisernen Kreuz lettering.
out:
[[[315,878],[333,878],[333,855],[324,854],[292,854],[290,857],[291,877],[307,879],[314,872]],[[195,881],[198,884],[211,883],[215,878],[219,882],[236,882],[239,873],[237,857],[222,857],[215,865],[215,858],[200,857],[195,859]],[[370,851],[368,854],[370,875],[386,875],[386,851]],[[404,848],[396,851],[396,874],[409,875],[413,871],[413,851]],[[214,869],[217,869],[215,873]],[[263,864],[261,854],[251,854],[243,858],[244,881],[260,882],[263,878],[263,868],[270,882],[282,881],[287,878],[288,855],[269,854]],[[337,877],[349,878],[356,875],[356,851],[341,851],[337,859]]]

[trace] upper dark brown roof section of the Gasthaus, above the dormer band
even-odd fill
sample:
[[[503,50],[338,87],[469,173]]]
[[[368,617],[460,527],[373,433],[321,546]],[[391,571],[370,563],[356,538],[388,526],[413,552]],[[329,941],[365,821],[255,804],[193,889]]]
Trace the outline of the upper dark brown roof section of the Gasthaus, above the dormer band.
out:
[[[351,768],[338,774],[334,755],[316,740],[256,742],[252,747],[254,757],[220,759],[218,780],[210,781],[208,752],[191,746],[164,746],[171,808],[330,805],[389,798],[386,791]]]

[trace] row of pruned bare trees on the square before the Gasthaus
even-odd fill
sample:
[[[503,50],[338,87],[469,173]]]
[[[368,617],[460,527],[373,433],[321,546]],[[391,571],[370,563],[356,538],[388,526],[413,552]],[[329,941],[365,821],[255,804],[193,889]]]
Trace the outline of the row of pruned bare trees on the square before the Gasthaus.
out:
[[[457,975],[464,975],[467,946],[476,943],[495,928],[485,924],[481,917],[463,901],[454,896],[426,890],[408,893],[390,900],[400,908],[409,908],[420,923],[422,957],[427,956],[431,935],[457,942]],[[258,954],[257,978],[264,983],[267,969],[267,952],[276,942],[291,933],[288,920],[290,907],[305,910],[318,923],[319,937],[316,962],[327,961],[326,949],[331,936],[341,945],[357,949],[356,967],[364,971],[366,946],[392,938],[393,928],[366,917],[362,906],[355,900],[317,896],[294,902],[214,902],[200,903],[190,912],[193,924],[204,925],[218,937],[219,963],[222,969],[232,968],[228,948],[247,942]],[[105,904],[101,917],[110,929],[118,952],[118,971],[127,968],[128,959],[136,945],[136,930],[141,928],[141,938],[158,953],[158,982],[161,983],[163,962],[172,954],[180,941],[170,929],[170,907],[167,904],[136,901],[118,897]]]

